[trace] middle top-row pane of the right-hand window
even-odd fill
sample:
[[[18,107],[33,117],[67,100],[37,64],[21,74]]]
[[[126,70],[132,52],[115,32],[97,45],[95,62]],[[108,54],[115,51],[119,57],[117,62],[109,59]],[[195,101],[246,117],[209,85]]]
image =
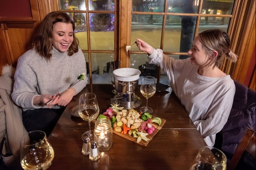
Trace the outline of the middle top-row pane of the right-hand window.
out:
[[[167,12],[198,13],[199,0],[168,0]]]

